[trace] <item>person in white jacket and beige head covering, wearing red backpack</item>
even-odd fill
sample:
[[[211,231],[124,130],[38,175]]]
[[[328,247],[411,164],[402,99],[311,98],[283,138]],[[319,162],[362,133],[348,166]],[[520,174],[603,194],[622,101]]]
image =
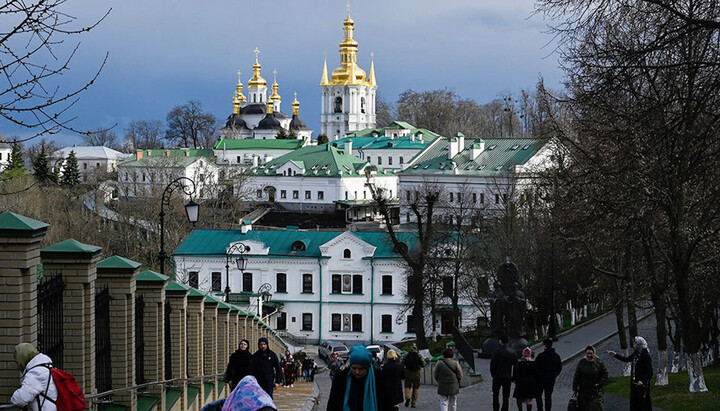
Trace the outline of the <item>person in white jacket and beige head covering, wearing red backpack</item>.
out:
[[[57,388],[50,376],[52,360],[40,354],[32,344],[22,343],[15,346],[15,363],[22,371],[22,385],[15,390],[10,402],[19,408],[31,410],[56,411]]]

